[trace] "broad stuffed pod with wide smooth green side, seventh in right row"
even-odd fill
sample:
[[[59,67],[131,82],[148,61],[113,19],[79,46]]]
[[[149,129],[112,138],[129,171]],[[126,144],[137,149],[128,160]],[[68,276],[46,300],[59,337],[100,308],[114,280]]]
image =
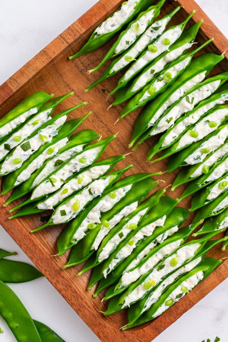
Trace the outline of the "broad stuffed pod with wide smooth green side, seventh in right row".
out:
[[[213,53],[205,53],[194,58],[183,74],[170,87],[159,94],[156,100],[149,102],[143,108],[136,120],[133,137],[129,146],[133,146],[136,140],[146,130],[155,125],[155,122],[162,116],[167,107],[182,97],[192,86],[200,83],[209,71],[223,60],[223,58],[224,55],[219,56]],[[152,152],[151,149],[149,152]]]

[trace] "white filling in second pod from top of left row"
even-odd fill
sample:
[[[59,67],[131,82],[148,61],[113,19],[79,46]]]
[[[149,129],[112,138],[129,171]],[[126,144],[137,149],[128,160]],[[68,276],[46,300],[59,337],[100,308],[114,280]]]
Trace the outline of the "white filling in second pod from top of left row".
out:
[[[30,134],[32,134],[38,127],[42,126],[42,124],[51,118],[48,117],[51,113],[51,109],[45,110],[35,117],[33,117],[28,123],[25,124],[20,130],[15,132],[8,140],[4,141],[2,145],[0,145],[0,159],[5,157],[9,151],[4,149],[4,145],[7,144],[10,146],[11,149],[19,145],[23,140],[25,140]],[[32,124],[36,122],[37,124]],[[14,140],[15,139],[15,140]],[[19,139],[19,141],[18,141]]]

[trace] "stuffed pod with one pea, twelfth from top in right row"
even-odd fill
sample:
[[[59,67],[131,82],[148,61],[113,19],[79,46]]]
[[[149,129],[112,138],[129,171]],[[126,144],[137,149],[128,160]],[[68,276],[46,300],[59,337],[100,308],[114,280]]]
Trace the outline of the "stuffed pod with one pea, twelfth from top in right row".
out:
[[[202,174],[207,174],[213,165],[219,161],[221,158],[224,158],[224,156],[228,153],[228,143],[225,142],[221,146],[219,146],[214,152],[209,153],[203,161],[194,164],[189,165],[184,168],[178,173],[171,190],[173,191],[177,186],[182,185],[184,183],[190,182],[195,180],[197,177],[201,176]],[[189,184],[189,185],[190,185]],[[193,183],[192,183],[193,184]],[[180,197],[180,200],[190,195],[189,192],[190,187],[186,188],[183,195]],[[190,190],[191,191],[191,190]],[[195,190],[194,190],[195,192]]]

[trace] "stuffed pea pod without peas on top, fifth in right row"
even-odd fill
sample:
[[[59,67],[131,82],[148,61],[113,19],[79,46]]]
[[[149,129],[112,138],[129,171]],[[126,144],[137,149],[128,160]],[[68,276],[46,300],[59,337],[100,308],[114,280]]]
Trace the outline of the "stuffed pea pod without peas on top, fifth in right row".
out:
[[[155,22],[155,24],[158,26],[161,25],[165,18],[168,20],[172,17],[172,13],[173,11]],[[191,26],[189,29],[183,31],[176,42],[170,46],[169,51],[164,51],[160,56],[155,58],[155,60],[145,67],[143,72],[134,78],[132,82],[126,83],[124,87],[122,87],[122,83],[118,84],[118,86],[110,92],[110,95],[113,95],[117,91],[115,102],[112,103],[112,106],[117,106],[118,104],[128,100],[140,89],[142,89],[145,84],[150,82],[151,78],[156,77],[167,63],[170,63],[184,53],[184,51],[190,48],[194,39],[196,38],[196,34],[202,22],[203,21],[201,20],[195,25]]]

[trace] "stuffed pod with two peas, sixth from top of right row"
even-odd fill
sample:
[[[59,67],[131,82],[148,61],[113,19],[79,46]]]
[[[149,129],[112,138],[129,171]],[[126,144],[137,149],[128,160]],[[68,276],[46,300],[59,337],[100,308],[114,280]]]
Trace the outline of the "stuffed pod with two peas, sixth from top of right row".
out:
[[[146,86],[137,92],[130,101],[123,107],[120,113],[120,119],[128,115],[137,108],[144,106],[148,101],[151,101],[159,93],[162,93],[170,84],[172,84],[178,76],[189,66],[192,57],[195,53],[209,44],[213,39],[206,41],[199,48],[192,50],[178,59],[173,61],[166,69],[163,69],[159,76],[154,77]]]

